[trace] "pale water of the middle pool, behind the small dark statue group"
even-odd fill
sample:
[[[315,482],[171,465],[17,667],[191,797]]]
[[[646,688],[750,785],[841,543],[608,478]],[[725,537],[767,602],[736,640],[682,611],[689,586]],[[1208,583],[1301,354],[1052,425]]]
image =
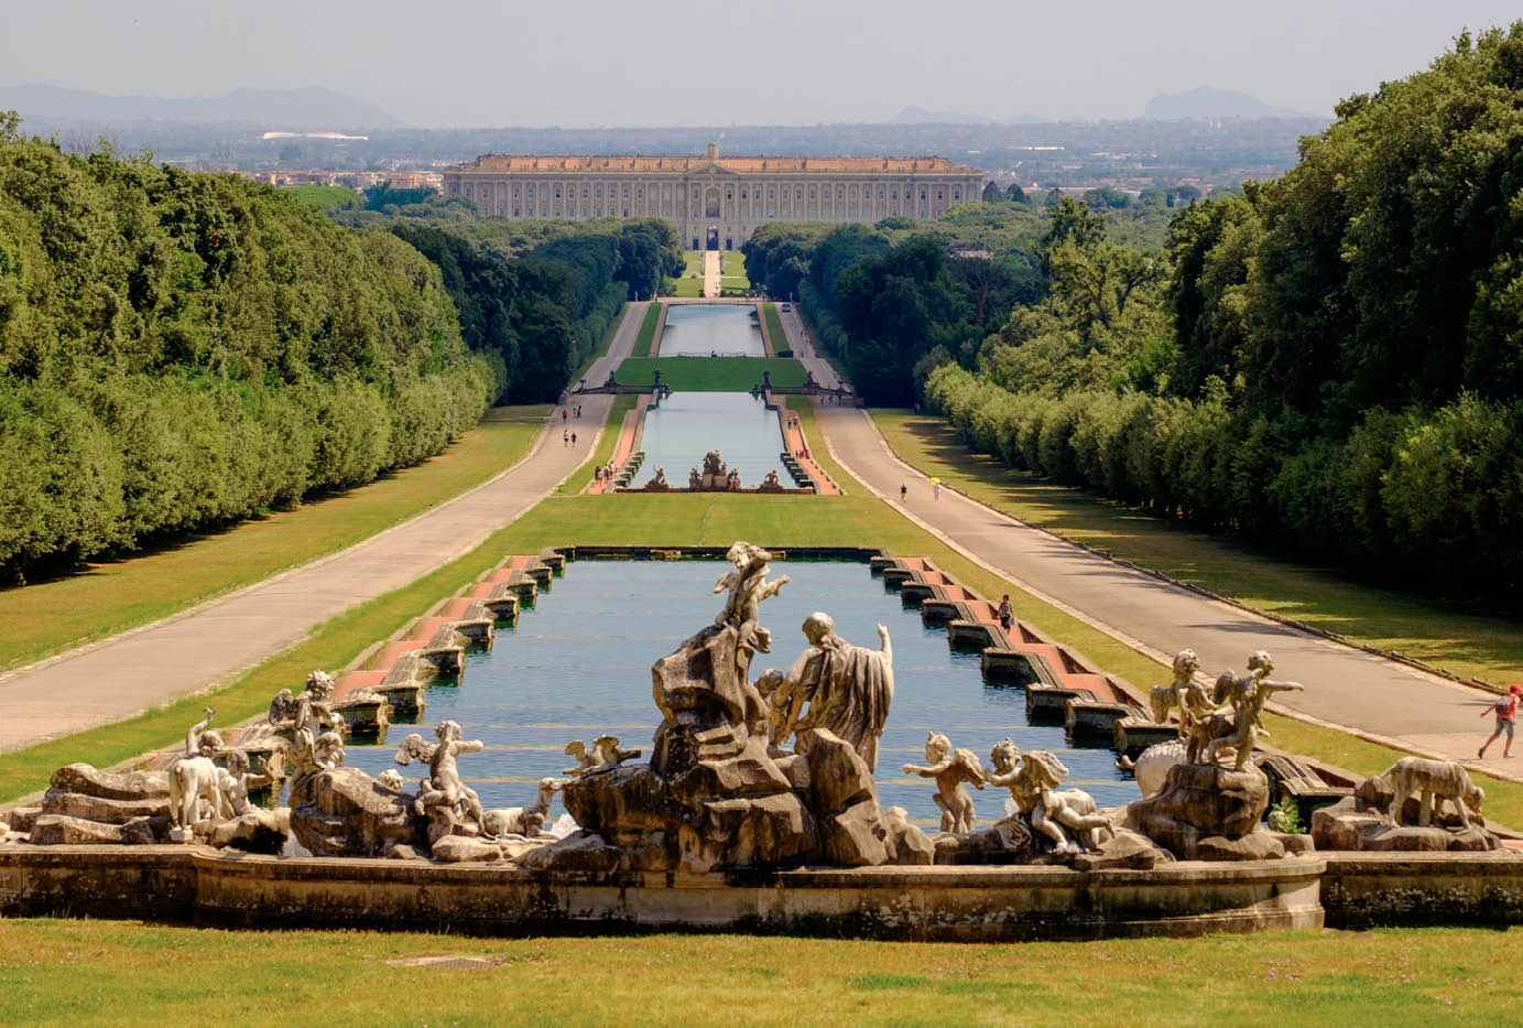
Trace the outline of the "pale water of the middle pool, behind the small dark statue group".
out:
[[[637,486],[655,475],[656,468],[666,468],[667,481],[685,487],[688,471],[702,471],[704,454],[711,449],[740,472],[742,486],[760,486],[769,471],[784,486],[793,484],[778,460],[783,429],[777,413],[751,393],[673,393],[646,411],[640,449],[646,463],[635,475]]]

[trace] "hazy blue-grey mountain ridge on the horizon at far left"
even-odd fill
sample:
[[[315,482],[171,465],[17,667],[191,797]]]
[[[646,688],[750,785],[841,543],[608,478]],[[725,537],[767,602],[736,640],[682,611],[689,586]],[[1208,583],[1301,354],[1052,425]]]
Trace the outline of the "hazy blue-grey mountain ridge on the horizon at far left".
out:
[[[0,110],[29,122],[184,122],[267,129],[402,128],[375,104],[317,85],[233,90],[227,96],[110,96],[56,85],[0,85]]]

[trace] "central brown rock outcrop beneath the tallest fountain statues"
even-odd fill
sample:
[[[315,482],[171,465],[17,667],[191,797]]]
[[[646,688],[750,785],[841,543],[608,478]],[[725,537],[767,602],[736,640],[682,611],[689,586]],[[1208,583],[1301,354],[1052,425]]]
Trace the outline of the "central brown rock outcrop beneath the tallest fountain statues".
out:
[[[772,742],[769,704],[746,681],[766,637],[751,618],[736,621],[705,627],[655,662],[661,725],[650,763],[573,778],[562,798],[583,832],[521,864],[694,873],[931,864],[931,841],[905,812],[879,809],[857,746],[824,728],[803,728],[793,752]]]

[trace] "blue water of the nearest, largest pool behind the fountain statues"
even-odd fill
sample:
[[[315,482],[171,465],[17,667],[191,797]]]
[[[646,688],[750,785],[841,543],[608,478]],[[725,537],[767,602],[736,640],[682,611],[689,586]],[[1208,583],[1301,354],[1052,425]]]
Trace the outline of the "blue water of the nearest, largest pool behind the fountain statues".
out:
[[[468,655],[458,684],[428,690],[423,723],[393,725],[387,745],[350,745],[347,763],[372,775],[394,766],[402,739],[417,731],[429,742],[434,725],[460,722],[466,739],[486,751],[460,758],[460,772],[487,807],[532,803],[535,783],[559,775],[576,761],[567,742],[609,733],[626,748],[650,757],[650,737],[661,720],[650,699],[650,666],[688,635],[710,624],[722,597],[714,580],[731,565],[710,560],[577,560],[567,565],[548,592],[516,626],[501,624],[490,652]],[[812,611],[836,620],[848,643],[877,647],[877,623],[894,641],[894,701],[879,746],[877,783],[883,806],[902,806],[921,825],[937,827],[940,813],[926,778],[905,775],[906,761],[924,763],[926,731],[946,733],[953,746],[978,754],[988,769],[990,748],[1010,736],[1025,749],[1051,749],[1071,775],[1103,806],[1136,800],[1136,784],[1122,781],[1109,749],[1074,749],[1062,728],[1027,725],[1019,687],[985,685],[978,653],[955,653],[946,631],[926,627],[920,612],[903,608],[865,563],[780,560],[774,577],[789,576],[781,595],[762,606],[772,631],[772,653],[758,653],[752,679],[766,667],[786,669],[806,646],[800,631]],[[416,784],[426,769],[402,768]],[[1010,793],[973,793],[978,815],[995,821]],[[559,816],[559,801],[551,816]]]

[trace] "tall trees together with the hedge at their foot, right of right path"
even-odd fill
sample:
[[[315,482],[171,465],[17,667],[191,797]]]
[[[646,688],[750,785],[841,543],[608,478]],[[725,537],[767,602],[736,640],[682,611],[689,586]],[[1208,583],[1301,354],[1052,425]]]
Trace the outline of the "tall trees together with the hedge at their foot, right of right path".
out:
[[[1164,256],[1060,201],[1048,295],[926,399],[1062,481],[1515,594],[1523,23],[1337,114],[1284,177],[1182,209]]]

